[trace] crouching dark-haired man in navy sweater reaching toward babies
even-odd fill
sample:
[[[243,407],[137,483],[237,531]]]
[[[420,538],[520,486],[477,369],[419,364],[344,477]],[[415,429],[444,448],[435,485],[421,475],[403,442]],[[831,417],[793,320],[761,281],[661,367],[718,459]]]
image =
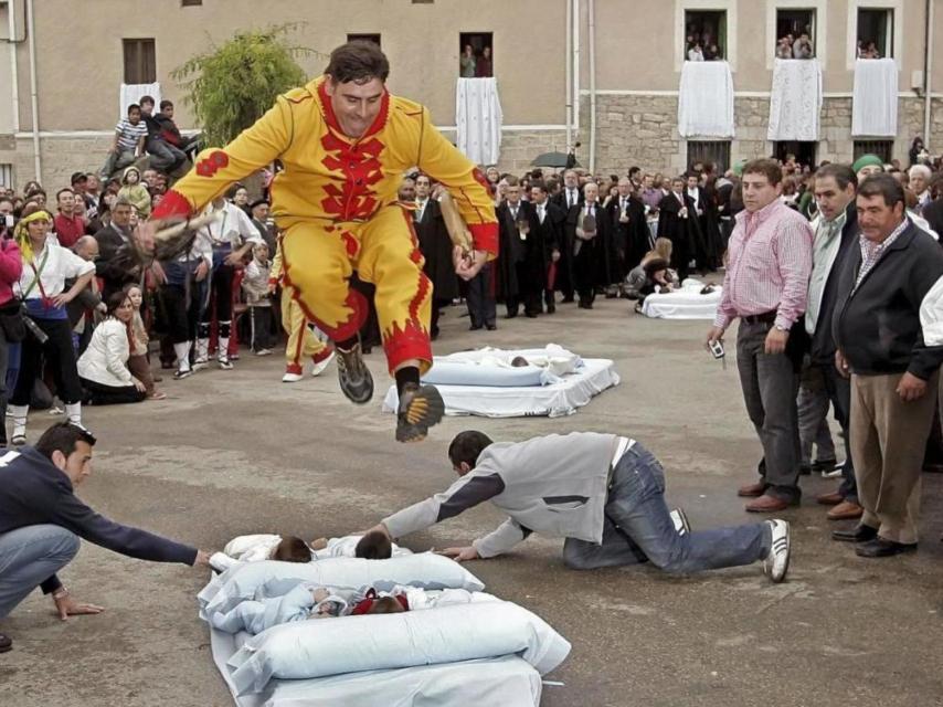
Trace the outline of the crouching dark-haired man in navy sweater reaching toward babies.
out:
[[[60,619],[103,611],[75,602],[56,572],[78,552],[78,538],[152,562],[209,566],[209,555],[99,516],[73,494],[92,473],[95,437],[62,422],[46,430],[35,447],[0,456],[0,620],[36,587],[52,594]],[[0,653],[12,648],[0,633]]]

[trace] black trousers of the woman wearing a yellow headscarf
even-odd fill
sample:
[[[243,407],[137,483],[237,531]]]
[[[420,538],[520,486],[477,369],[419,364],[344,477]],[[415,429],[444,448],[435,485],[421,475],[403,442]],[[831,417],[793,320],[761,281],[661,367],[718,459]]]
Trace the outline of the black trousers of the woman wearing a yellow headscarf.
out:
[[[10,404],[29,405],[33,383],[42,374],[43,360],[52,370],[56,394],[65,404],[82,401],[82,383],[78,381],[78,369],[75,366],[75,349],[72,348],[72,328],[68,319],[33,318],[36,326],[49,337],[45,344],[40,344],[32,334],[23,339],[20,356],[20,373],[17,387],[10,397]]]

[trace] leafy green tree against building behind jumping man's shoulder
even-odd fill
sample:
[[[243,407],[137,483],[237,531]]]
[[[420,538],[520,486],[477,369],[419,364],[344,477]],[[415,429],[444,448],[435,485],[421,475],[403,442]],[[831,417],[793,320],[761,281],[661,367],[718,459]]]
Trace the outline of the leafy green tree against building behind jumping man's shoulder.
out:
[[[237,32],[171,72],[203,129],[203,145],[219,147],[255,123],[275,98],[307,78],[296,59],[314,50],[288,43],[297,24]]]

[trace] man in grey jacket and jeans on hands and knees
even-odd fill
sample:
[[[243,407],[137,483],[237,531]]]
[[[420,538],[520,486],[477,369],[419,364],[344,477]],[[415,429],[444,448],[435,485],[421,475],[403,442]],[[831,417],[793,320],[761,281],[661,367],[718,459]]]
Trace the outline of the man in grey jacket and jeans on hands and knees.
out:
[[[458,561],[507,552],[531,532],[565,538],[572,569],[651,561],[667,572],[696,572],[763,561],[774,582],[790,564],[790,525],[766,520],[689,532],[665,505],[665,473],[638,442],[573,432],[520,443],[459,433],[448,447],[459,478],[448,489],[383,519],[374,530],[401,538],[490,500],[509,518],[469,547],[444,555]]]

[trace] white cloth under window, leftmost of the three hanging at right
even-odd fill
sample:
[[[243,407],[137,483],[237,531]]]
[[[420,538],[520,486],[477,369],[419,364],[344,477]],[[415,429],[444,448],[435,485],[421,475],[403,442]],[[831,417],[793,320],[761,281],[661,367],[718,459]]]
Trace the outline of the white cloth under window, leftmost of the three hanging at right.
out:
[[[678,91],[681,137],[733,137],[733,75],[727,62],[685,62]]]

